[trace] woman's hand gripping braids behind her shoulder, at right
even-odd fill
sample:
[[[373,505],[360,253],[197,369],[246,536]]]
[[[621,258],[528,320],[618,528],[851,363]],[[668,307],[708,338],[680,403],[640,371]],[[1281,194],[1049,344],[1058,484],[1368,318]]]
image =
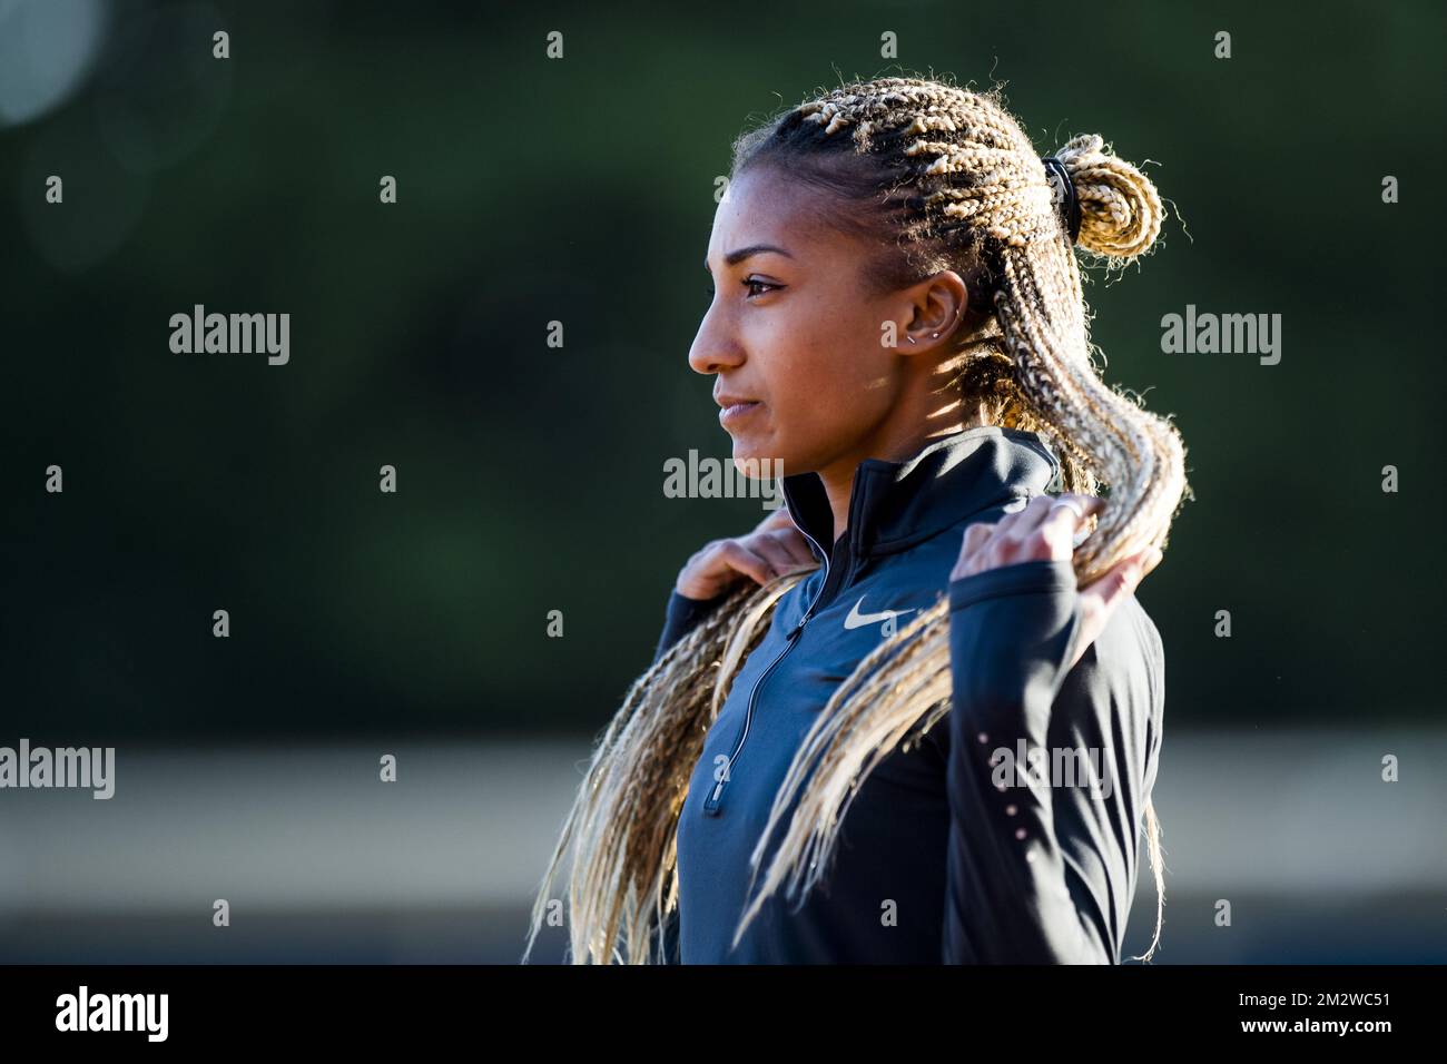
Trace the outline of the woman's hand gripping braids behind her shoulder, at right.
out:
[[[1075,536],[1106,507],[1094,495],[1037,495],[1024,510],[1006,514],[994,524],[972,524],[965,530],[949,579],[958,580],[987,569],[1019,562],[1064,562],[1075,554]],[[1110,615],[1129,598],[1145,576],[1160,565],[1160,552],[1147,547],[1121,559],[1104,576],[1079,589],[1081,630],[1075,637],[1069,667],[1081,660]]]

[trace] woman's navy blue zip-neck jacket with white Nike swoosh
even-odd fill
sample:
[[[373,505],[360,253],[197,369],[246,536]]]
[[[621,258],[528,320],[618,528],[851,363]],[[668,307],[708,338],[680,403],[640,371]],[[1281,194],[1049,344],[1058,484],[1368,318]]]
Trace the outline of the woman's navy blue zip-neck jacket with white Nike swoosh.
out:
[[[993,426],[909,462],[865,460],[828,554],[823,482],[783,479],[820,569],[778,601],[709,728],[679,822],[670,961],[1120,963],[1160,748],[1159,633],[1132,596],[1066,672],[1081,620],[1068,560],[949,579],[969,524],[1019,510],[1058,472],[1037,434]],[[800,741],[855,664],[941,595],[951,711],[864,777],[802,905],[780,889],[731,950],[748,857]],[[657,654],[721,601],[673,592]]]

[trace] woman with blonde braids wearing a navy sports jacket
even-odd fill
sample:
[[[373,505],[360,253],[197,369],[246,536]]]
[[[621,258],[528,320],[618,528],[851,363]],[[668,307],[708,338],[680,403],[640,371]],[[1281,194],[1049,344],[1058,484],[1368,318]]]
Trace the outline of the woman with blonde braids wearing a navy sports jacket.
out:
[[[1119,963],[1142,827],[1159,940],[1132,592],[1185,450],[1097,375],[1074,246],[1130,261],[1160,213],[1100,138],[1042,161],[941,81],[739,138],[689,362],[787,508],[679,573],[528,953],[570,856],[576,963]]]

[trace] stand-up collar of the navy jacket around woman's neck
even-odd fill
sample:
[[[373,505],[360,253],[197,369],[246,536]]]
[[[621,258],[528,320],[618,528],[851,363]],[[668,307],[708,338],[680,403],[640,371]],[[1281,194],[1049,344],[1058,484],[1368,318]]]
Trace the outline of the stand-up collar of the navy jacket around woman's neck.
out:
[[[907,550],[984,510],[1042,494],[1059,468],[1039,433],[998,426],[943,436],[906,462],[865,459],[849,497],[849,552],[862,559]],[[784,476],[783,494],[794,524],[829,552],[833,511],[819,473]]]

